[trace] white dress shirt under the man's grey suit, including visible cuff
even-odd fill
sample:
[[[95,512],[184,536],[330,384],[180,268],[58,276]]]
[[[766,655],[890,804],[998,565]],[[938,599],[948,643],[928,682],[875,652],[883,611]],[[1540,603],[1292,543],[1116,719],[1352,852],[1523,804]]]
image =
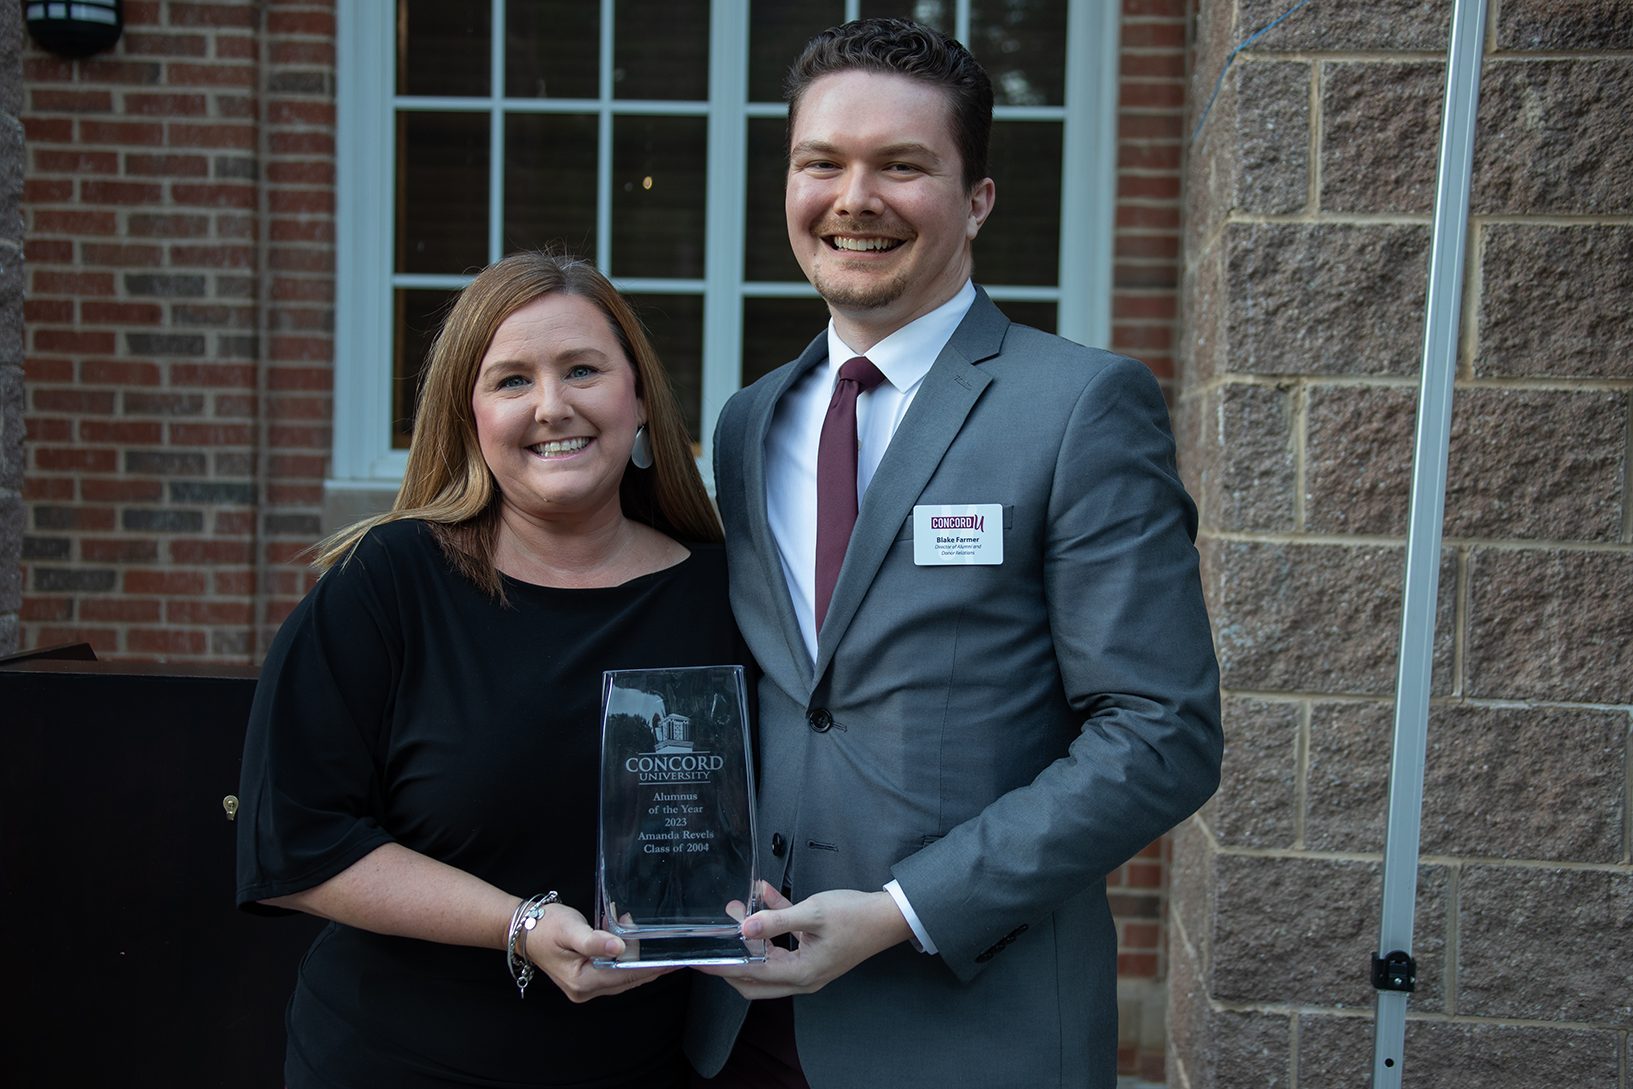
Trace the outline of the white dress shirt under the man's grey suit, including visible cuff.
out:
[[[965,281],[952,299],[903,325],[865,353],[854,351],[839,340],[830,320],[828,366],[812,367],[777,403],[766,434],[766,516],[771,519],[782,576],[787,580],[794,616],[812,663],[816,661],[816,444],[821,441],[821,424],[839,367],[852,356],[865,354],[885,376],[883,382],[856,400],[856,496],[861,501],[924,376],[973,304],[975,284]],[[885,890],[901,908],[923,950],[936,952],[901,887],[890,882]]]

